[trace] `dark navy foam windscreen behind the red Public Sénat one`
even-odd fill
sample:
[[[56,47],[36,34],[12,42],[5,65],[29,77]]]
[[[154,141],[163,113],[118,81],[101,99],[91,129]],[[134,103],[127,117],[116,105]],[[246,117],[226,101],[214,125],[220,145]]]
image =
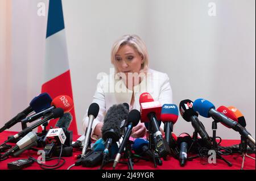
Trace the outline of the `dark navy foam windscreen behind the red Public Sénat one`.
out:
[[[47,93],[42,93],[31,100],[30,106],[36,113],[51,107],[52,98]]]

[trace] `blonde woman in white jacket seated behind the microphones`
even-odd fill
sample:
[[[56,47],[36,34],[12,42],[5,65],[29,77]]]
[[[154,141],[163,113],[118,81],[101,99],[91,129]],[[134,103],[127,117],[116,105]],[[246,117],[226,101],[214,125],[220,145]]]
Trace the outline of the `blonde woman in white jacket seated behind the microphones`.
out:
[[[139,96],[143,92],[149,92],[161,104],[172,103],[168,75],[148,68],[147,48],[139,36],[125,35],[117,40],[112,47],[111,62],[114,73],[102,77],[92,101],[100,106],[100,112],[92,125],[93,140],[102,136],[104,115],[113,104],[128,103],[130,110],[140,110]],[[87,113],[82,125],[85,131],[88,126]],[[138,138],[145,134],[144,123],[139,123],[133,128],[131,136]]]

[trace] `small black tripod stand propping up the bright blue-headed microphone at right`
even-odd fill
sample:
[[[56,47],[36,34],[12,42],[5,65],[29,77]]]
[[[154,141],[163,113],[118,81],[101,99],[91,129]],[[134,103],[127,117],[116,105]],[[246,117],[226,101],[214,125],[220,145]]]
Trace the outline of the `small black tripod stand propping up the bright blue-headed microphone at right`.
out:
[[[223,158],[220,154],[220,149],[224,149],[222,147],[219,147],[218,144],[217,144],[217,141],[216,141],[216,131],[217,131],[217,123],[218,121],[217,120],[214,120],[212,122],[212,131],[213,131],[213,137],[212,137],[212,150],[214,150],[216,152],[216,158],[219,158],[219,159],[222,159],[224,162],[226,162],[228,164],[228,166],[232,166],[232,163],[230,163],[229,161],[227,161],[225,158]],[[225,149],[224,149],[225,150]],[[228,150],[226,150],[228,151]]]

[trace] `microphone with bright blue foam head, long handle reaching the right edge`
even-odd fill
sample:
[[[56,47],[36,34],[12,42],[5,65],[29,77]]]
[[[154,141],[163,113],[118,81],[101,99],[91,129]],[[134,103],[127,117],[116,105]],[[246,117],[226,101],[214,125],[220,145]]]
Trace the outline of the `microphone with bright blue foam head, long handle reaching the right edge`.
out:
[[[253,144],[255,146],[254,138],[251,137],[250,133],[245,128],[243,128],[236,121],[229,119],[229,117],[216,111],[214,105],[211,102],[209,102],[208,100],[196,99],[193,104],[193,110],[195,110],[201,116],[212,117],[214,120],[222,122],[226,126],[234,129],[234,131],[239,132],[242,136],[247,137],[251,142],[253,142]]]

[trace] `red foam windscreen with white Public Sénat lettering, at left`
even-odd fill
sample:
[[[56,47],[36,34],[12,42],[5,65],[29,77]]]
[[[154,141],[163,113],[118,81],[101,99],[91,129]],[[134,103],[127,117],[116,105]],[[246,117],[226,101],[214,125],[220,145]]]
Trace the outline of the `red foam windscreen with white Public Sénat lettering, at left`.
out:
[[[74,107],[74,102],[68,95],[59,95],[52,100],[51,105],[62,108],[64,112],[69,112]]]

